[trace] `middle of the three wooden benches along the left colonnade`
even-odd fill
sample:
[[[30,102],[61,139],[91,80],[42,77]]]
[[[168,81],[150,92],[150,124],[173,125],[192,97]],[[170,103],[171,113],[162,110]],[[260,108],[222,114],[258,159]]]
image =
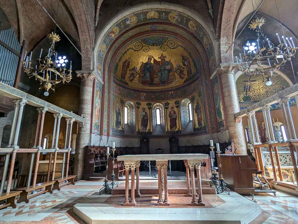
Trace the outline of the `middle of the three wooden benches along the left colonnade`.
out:
[[[17,188],[16,190],[20,190],[21,191],[21,195],[20,195],[20,198],[18,199],[17,203],[21,203],[21,202],[26,202],[26,203],[29,203],[29,199],[30,198],[34,198],[38,195],[41,195],[41,194],[44,194],[46,192],[49,192],[50,194],[53,193],[52,191],[52,185],[55,183],[55,181],[46,181],[44,183],[40,183],[40,184],[35,184],[32,185],[32,186],[29,186],[29,187],[22,187],[22,188]],[[44,191],[41,191],[41,192],[38,192],[38,193],[35,193],[35,194],[32,194],[32,195],[29,195],[28,196],[28,193],[31,192],[31,191],[34,191],[34,190],[38,190],[38,189],[41,189],[41,188],[46,188]]]

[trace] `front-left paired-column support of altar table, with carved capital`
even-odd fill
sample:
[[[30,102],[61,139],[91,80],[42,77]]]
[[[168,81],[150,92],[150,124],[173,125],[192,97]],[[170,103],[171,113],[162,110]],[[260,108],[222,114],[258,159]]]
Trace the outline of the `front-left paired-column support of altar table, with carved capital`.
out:
[[[134,197],[135,187],[134,187],[134,171],[136,169],[137,161],[125,161],[125,200],[123,205],[133,205],[136,206],[136,200]],[[129,170],[131,170],[131,200],[129,201]]]

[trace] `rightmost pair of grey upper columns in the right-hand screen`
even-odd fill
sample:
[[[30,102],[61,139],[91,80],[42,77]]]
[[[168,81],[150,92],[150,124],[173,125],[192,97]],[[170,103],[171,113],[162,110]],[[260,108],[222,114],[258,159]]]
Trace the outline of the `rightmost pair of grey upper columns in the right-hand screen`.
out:
[[[289,104],[290,98],[281,98],[278,100],[278,102],[280,103],[283,112],[283,120],[285,122],[285,131],[288,140],[290,142],[298,141]]]

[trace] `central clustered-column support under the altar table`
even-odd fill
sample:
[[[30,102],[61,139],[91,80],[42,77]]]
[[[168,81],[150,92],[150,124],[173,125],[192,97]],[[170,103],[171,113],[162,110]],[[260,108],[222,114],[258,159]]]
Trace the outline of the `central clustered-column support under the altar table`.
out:
[[[156,167],[158,171],[158,205],[169,206],[170,202],[168,199],[168,191],[167,191],[167,165],[168,160],[156,160]],[[163,170],[164,177],[162,177]],[[162,178],[164,178],[164,200],[162,201]]]

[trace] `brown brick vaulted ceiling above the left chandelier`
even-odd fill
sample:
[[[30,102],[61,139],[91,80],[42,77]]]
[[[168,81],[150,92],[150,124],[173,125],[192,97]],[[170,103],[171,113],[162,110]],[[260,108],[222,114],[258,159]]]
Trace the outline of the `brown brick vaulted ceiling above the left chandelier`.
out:
[[[56,21],[63,31],[69,34],[77,43],[80,43],[70,1],[40,0],[53,18],[56,18],[57,15]],[[14,28],[19,40],[26,40],[26,47],[29,50],[55,28],[54,22],[42,10],[36,0],[0,0],[0,7],[10,25]]]

